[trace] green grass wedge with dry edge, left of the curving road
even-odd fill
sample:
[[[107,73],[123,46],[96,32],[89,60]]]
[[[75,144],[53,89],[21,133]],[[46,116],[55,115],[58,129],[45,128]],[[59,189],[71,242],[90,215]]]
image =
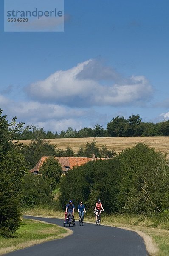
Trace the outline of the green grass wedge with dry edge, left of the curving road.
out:
[[[0,255],[40,242],[59,239],[66,234],[67,230],[54,224],[23,219],[20,229],[12,238],[0,237]]]

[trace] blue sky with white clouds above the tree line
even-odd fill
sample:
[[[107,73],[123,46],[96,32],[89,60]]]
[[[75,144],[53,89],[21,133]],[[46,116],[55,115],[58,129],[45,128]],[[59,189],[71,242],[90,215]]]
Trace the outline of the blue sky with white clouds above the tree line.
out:
[[[65,0],[64,32],[4,32],[3,1],[0,10],[9,120],[60,132],[117,115],[169,119],[168,0]]]

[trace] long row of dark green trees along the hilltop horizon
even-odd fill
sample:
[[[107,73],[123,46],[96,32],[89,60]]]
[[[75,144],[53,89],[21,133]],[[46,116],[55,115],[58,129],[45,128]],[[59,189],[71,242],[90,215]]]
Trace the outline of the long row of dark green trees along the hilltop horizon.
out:
[[[18,140],[26,139],[54,139],[54,138],[83,138],[83,137],[128,137],[128,136],[169,136],[169,120],[153,123],[142,122],[140,115],[132,115],[129,119],[116,116],[107,123],[107,128],[96,124],[93,129],[84,127],[79,131],[68,127],[59,134],[44,131],[43,128],[27,126],[17,134]]]

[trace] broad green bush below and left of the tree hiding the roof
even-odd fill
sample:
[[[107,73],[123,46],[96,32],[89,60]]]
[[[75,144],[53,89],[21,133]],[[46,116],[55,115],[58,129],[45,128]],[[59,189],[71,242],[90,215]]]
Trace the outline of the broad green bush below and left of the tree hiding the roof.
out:
[[[40,175],[25,175],[22,186],[22,207],[51,205],[52,203],[53,195],[48,180]]]

